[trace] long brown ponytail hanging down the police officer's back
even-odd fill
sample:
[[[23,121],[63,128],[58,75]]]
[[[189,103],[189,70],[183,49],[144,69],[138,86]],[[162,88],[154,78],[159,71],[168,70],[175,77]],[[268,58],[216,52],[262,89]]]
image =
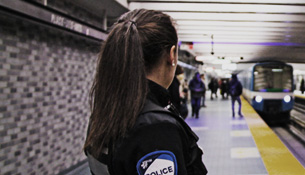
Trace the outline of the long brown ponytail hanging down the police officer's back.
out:
[[[102,145],[124,136],[143,108],[147,94],[143,51],[136,24],[118,24],[99,55],[91,89],[90,129],[85,149],[98,157]]]

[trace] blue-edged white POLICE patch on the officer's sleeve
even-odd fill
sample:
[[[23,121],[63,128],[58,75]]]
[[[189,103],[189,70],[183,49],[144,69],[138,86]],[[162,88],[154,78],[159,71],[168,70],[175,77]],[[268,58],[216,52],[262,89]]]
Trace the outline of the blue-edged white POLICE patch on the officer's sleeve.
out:
[[[139,175],[177,175],[177,160],[170,151],[154,151],[137,163]]]

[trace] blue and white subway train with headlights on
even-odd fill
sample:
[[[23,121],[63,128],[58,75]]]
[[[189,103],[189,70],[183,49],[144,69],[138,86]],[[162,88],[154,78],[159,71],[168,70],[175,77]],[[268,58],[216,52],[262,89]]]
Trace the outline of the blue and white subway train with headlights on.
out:
[[[287,122],[293,108],[293,67],[278,61],[254,64],[239,75],[243,96],[267,123]]]

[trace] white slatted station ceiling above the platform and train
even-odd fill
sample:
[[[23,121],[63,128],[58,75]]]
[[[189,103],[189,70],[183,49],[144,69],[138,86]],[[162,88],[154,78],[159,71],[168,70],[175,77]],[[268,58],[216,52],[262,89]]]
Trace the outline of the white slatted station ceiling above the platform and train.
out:
[[[203,62],[305,63],[305,0],[118,1],[72,2],[96,14],[106,10],[109,24],[136,8],[163,11],[177,23],[181,48]]]

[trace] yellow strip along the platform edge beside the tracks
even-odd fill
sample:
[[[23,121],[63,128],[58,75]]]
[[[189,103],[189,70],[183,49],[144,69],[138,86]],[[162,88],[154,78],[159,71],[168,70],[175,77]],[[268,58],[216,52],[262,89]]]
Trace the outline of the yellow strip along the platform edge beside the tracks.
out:
[[[305,175],[305,168],[244,98],[242,105],[242,113],[269,175]]]

